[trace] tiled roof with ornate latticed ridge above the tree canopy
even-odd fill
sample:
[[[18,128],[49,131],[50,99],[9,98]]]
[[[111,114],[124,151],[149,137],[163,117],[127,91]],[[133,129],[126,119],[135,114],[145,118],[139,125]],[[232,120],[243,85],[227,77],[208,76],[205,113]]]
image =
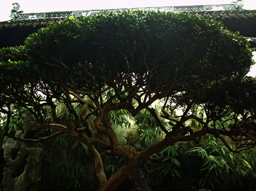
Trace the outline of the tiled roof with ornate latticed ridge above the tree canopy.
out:
[[[135,8],[141,9],[141,8]],[[181,11],[191,14],[199,14],[203,18],[214,19],[239,19],[256,18],[256,10],[246,11],[236,6],[236,3],[222,5],[198,5],[198,6],[171,6],[171,7],[149,7],[145,10],[160,11]],[[114,11],[125,9],[113,9]],[[69,17],[80,17],[88,14],[97,14],[102,10],[84,11],[59,11],[41,13],[22,13],[22,11],[12,11],[12,18],[9,21],[0,22],[0,29],[3,28],[23,28],[23,27],[47,27],[51,23],[56,23]],[[108,10],[112,11],[112,10]]]

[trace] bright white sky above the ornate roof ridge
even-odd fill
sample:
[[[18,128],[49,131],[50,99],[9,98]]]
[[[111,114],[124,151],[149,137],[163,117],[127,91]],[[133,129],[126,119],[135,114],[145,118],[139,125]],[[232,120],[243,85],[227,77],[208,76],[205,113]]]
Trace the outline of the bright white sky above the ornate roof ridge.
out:
[[[247,3],[255,4],[256,0],[246,0]],[[47,12],[47,11],[69,11],[69,10],[94,10],[94,9],[121,9],[121,8],[143,8],[164,7],[203,4],[229,4],[232,0],[0,0],[0,21],[9,19],[12,3],[18,2],[24,13]],[[256,54],[254,56],[256,60]],[[256,64],[251,69],[250,76],[256,76]]]

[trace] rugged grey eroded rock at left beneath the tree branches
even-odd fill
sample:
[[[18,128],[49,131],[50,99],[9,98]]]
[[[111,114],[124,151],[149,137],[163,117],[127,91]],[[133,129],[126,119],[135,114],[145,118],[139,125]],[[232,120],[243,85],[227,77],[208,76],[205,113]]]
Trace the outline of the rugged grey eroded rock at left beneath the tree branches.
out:
[[[25,116],[29,119],[31,115]],[[24,119],[22,131],[17,131],[19,138],[33,139],[40,125]],[[41,180],[41,169],[44,157],[42,148],[34,147],[33,143],[15,141],[5,137],[2,145],[6,166],[2,184],[5,191],[36,191]]]

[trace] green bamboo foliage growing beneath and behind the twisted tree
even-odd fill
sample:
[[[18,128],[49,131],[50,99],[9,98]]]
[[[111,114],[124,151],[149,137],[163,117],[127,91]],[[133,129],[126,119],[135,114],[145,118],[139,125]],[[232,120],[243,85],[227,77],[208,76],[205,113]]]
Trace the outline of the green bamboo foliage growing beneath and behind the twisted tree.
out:
[[[19,111],[12,116],[12,122],[9,125],[10,134],[21,130],[22,120],[19,116],[24,112],[26,111]],[[60,114],[63,113],[65,112]],[[117,115],[116,117],[127,116]],[[1,119],[3,120],[2,128],[6,118]],[[148,111],[142,110],[135,119],[138,124],[136,133],[126,137],[127,141],[122,144],[135,146],[137,151],[141,151],[162,139],[162,134],[158,132],[158,125]],[[122,121],[116,121],[116,123],[122,124]],[[189,123],[193,129],[200,126],[200,123],[195,120]],[[3,133],[1,128],[0,133]],[[51,131],[43,130],[38,132],[37,136],[45,137],[51,134]],[[253,184],[256,179],[255,148],[246,152],[233,153],[219,139],[211,136],[204,136],[202,139],[202,144],[180,142],[162,150],[160,152],[162,157],[159,159],[162,161],[162,168],[158,171],[157,177],[154,177],[158,184],[151,183],[151,188],[155,191],[168,191],[170,188],[174,191],[196,191],[199,188],[212,191],[240,191],[255,188],[256,185]],[[97,190],[95,169],[91,163],[92,156],[84,143],[64,136],[37,143],[37,146],[45,151],[42,180],[38,190]],[[125,161],[124,158],[107,156],[104,152],[98,151],[107,177],[115,173]],[[1,169],[3,167],[4,165]],[[1,188],[0,184],[0,190]],[[118,190],[131,190],[131,188],[132,184],[126,180]]]

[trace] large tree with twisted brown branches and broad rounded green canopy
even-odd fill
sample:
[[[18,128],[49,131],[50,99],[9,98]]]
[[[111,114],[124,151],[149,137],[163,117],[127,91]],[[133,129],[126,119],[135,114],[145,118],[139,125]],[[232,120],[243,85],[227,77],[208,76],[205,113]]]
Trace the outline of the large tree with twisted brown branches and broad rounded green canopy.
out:
[[[244,37],[196,14],[127,10],[69,18],[40,29],[24,46],[0,50],[0,112],[8,117],[5,134],[39,142],[67,133],[86,143],[100,191],[114,190],[138,163],[180,141],[198,142],[212,134],[238,152],[256,140],[256,81],[245,77],[254,64],[251,58]],[[74,121],[57,116],[55,100],[66,105]],[[164,100],[161,113],[151,106],[157,100]],[[74,104],[81,105],[79,112]],[[196,115],[198,107],[206,117]],[[58,132],[37,140],[8,134],[11,113],[17,108],[32,113],[43,129]],[[181,116],[172,115],[176,108],[183,108]],[[135,116],[142,109],[151,112],[166,136],[137,152],[118,142],[108,114],[127,110]],[[162,123],[163,118],[169,124]],[[201,128],[186,126],[191,119]],[[225,137],[238,142],[237,148],[231,148]],[[126,159],[108,180],[95,148]]]

